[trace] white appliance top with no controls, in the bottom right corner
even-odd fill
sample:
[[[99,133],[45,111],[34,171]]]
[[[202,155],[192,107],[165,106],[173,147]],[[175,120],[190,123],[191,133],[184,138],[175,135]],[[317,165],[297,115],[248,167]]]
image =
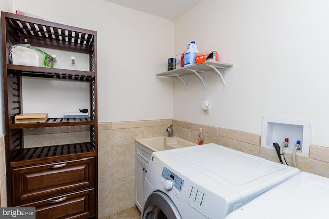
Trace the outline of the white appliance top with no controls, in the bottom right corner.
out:
[[[227,219],[327,219],[329,178],[300,172],[230,213]]]

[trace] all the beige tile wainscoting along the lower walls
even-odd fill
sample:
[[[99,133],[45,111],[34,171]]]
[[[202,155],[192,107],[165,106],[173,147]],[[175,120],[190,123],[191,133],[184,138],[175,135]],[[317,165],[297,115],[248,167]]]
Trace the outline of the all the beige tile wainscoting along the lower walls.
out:
[[[173,125],[173,135],[185,140],[198,142],[198,128],[204,131],[205,143],[216,143],[235,150],[260,156],[279,162],[275,150],[261,147],[261,136],[258,134],[230,130],[220,127],[194,124],[178,120],[145,120],[127,122],[108,122],[98,124],[98,211],[99,218],[111,218],[116,212],[135,207],[134,185],[134,141],[135,138],[166,136],[166,128]],[[34,130],[35,131],[35,130]],[[54,138],[67,136],[74,141],[75,136],[84,135],[85,129],[61,130],[57,128],[48,133],[31,132],[25,141],[39,145],[38,136],[48,134],[49,142]],[[67,132],[70,132],[68,135]],[[40,145],[42,146],[42,145]],[[6,206],[6,181],[4,170],[4,136],[0,138],[0,195],[1,206]],[[292,163],[291,154],[286,154],[288,163]],[[329,147],[311,145],[309,157],[296,157],[297,166],[302,171],[329,177]]]

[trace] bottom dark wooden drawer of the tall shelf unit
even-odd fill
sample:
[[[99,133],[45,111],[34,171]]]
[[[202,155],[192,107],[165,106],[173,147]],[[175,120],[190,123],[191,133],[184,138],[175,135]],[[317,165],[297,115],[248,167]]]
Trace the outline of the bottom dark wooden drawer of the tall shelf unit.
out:
[[[37,219],[90,218],[95,216],[95,190],[83,190],[15,207],[35,207]]]

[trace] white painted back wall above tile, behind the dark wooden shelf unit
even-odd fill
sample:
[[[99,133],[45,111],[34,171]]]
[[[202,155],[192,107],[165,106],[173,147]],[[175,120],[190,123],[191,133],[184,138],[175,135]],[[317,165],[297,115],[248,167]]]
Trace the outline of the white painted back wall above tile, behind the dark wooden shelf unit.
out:
[[[13,0],[13,8],[97,31],[99,122],[172,118],[173,82],[155,74],[174,54],[173,22],[104,0]]]

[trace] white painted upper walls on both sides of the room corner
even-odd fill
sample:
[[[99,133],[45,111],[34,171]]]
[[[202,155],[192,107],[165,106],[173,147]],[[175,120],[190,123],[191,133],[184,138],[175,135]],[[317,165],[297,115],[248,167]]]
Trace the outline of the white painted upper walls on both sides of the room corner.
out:
[[[14,10],[98,31],[100,122],[173,117],[261,134],[262,116],[299,118],[313,121],[312,144],[329,146],[325,0],[204,0],[175,24],[104,0],[57,1],[51,10],[41,0],[13,2]],[[192,40],[234,64],[224,90],[215,73],[205,90],[196,76],[187,90],[175,79],[174,91],[170,78],[155,76]]]

